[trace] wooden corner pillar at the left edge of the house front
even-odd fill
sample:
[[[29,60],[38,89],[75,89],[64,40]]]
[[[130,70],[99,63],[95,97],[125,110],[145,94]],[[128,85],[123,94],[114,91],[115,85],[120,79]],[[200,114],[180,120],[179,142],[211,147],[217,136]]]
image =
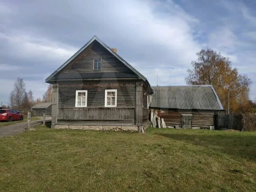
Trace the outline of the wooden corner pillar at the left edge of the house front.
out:
[[[58,117],[58,101],[59,101],[59,86],[58,84],[52,85],[52,126],[55,128]]]

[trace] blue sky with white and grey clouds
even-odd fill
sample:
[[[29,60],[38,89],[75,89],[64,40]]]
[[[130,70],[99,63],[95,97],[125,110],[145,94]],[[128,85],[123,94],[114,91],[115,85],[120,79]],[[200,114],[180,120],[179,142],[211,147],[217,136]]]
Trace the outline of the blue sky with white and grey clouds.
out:
[[[94,35],[148,78],[184,85],[201,48],[228,56],[253,81],[256,1],[0,0],[0,102],[16,78],[42,97],[44,80]]]

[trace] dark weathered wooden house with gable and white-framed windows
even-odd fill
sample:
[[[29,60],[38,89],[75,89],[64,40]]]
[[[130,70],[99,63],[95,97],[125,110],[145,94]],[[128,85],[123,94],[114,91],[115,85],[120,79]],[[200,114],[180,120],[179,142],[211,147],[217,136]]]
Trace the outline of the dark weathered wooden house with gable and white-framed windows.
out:
[[[147,127],[148,80],[96,36],[46,82],[53,84],[52,128]]]

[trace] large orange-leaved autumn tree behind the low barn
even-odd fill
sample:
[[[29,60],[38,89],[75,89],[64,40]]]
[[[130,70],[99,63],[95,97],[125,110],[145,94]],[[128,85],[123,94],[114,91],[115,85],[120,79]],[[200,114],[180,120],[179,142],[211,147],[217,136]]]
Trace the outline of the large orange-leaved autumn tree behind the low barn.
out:
[[[228,90],[230,110],[238,111],[248,104],[252,82],[247,75],[241,75],[237,68],[232,68],[229,58],[211,49],[202,49],[196,55],[198,59],[192,61],[192,69],[188,69],[187,84],[212,85],[225,109],[228,109]]]

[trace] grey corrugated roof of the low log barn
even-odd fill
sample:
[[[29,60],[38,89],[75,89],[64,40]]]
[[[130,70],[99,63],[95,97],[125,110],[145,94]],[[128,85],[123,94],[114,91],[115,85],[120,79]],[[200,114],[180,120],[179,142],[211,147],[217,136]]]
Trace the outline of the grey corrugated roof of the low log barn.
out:
[[[211,85],[152,86],[150,107],[172,109],[223,110]]]

